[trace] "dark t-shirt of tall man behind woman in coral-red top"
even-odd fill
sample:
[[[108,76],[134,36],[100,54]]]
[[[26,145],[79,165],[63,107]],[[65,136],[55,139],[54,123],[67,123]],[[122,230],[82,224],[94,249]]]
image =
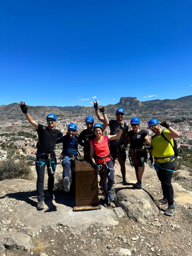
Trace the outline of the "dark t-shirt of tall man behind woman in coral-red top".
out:
[[[117,120],[111,119],[109,122],[109,127],[110,127],[110,135],[118,134],[118,131],[120,129],[120,124],[117,122]],[[128,130],[129,130],[128,124],[124,122],[124,128],[123,128],[121,137],[116,140],[110,140],[110,146],[117,147],[117,146],[123,145],[125,143],[125,134],[128,133]]]

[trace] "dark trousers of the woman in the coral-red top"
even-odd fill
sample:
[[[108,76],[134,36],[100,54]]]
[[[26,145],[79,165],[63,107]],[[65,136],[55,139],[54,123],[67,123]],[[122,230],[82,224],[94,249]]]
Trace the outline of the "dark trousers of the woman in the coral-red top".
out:
[[[112,189],[113,183],[114,183],[114,166],[112,160],[106,162],[108,168],[110,168],[110,174],[105,178],[104,174],[100,174],[101,178],[101,185],[103,188],[104,196],[108,197],[108,191]],[[103,165],[103,164],[102,164]]]

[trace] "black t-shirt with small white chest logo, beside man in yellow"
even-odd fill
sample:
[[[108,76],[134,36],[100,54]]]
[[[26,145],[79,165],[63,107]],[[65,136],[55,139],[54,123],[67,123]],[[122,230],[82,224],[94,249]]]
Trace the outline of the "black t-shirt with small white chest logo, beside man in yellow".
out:
[[[142,148],[142,146],[144,146],[144,138],[147,136],[147,132],[145,130],[140,130],[139,132],[131,130],[127,135],[129,137],[131,148]]]

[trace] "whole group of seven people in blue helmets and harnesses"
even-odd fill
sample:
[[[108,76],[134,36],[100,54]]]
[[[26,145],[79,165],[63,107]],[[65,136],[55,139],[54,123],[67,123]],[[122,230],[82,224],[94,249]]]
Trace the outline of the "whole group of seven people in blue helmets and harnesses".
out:
[[[135,168],[137,182],[135,188],[142,187],[142,175],[144,173],[144,162],[147,162],[147,150],[150,154],[150,161],[156,169],[158,178],[162,185],[163,199],[158,200],[161,204],[168,203],[167,215],[176,212],[173,200],[173,188],[171,178],[174,164],[173,138],[179,136],[178,132],[171,128],[165,121],[158,122],[151,119],[148,122],[149,128],[154,132],[151,143],[147,132],[140,129],[140,119],[134,117],[130,124],[132,130],[129,131],[128,124],[123,122],[125,111],[123,108],[116,110],[116,120],[108,121],[103,106],[98,106],[94,102],[94,109],[98,120],[101,123],[94,124],[93,116],[85,119],[87,129],[80,135],[77,132],[76,124],[69,124],[66,135],[55,129],[57,118],[54,114],[48,114],[46,121],[48,126],[38,124],[28,114],[28,106],[25,102],[20,102],[20,108],[28,122],[37,130],[38,143],[36,152],[36,171],[37,171],[37,209],[44,208],[44,174],[45,165],[48,168],[48,197],[54,200],[54,172],[56,169],[56,157],[54,146],[58,143],[63,144],[62,166],[63,166],[63,186],[64,191],[70,191],[72,183],[70,172],[73,169],[74,159],[78,157],[78,144],[83,146],[84,160],[89,162],[95,171],[100,175],[100,184],[104,193],[104,206],[114,200],[112,186],[114,184],[114,164],[116,158],[120,164],[122,173],[122,184],[126,185],[126,147],[130,144],[129,159]],[[168,130],[163,131],[161,126]],[[103,136],[104,129],[110,127],[110,135]],[[164,139],[164,138],[167,139]]]

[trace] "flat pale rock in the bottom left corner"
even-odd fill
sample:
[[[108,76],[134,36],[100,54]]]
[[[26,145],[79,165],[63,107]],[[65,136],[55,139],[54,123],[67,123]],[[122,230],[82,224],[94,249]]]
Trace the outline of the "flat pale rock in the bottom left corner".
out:
[[[14,231],[4,231],[0,234],[0,250],[23,249],[30,251],[34,247],[32,239],[26,234]]]

